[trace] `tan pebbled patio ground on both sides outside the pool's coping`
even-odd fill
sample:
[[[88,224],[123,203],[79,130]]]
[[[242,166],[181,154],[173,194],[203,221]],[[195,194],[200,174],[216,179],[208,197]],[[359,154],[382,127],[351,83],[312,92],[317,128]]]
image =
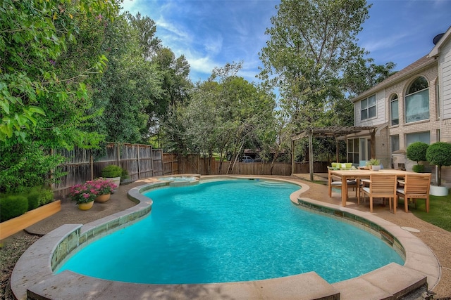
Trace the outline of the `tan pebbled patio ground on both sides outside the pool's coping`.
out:
[[[290,177],[290,179],[293,179],[293,177]],[[0,300],[14,299],[11,294],[10,287],[11,272],[13,271],[16,261],[18,261],[23,252],[25,252],[31,244],[39,239],[39,235],[49,233],[51,230],[54,230],[63,224],[89,223],[90,221],[94,221],[96,219],[103,218],[104,216],[114,214],[117,211],[122,211],[128,207],[132,207],[135,203],[128,200],[128,190],[137,185],[142,185],[151,181],[153,180],[147,179],[137,181],[130,185],[121,185],[119,190],[111,195],[111,200],[106,203],[95,203],[94,207],[89,209],[89,211],[80,211],[72,202],[63,200],[61,202],[61,211],[57,214],[54,214],[54,216],[50,216],[44,221],[27,228],[26,232],[22,231],[2,241],[2,244],[0,244]],[[302,193],[302,197],[309,197],[314,200],[333,204],[340,204],[339,194],[333,195],[332,198],[327,196],[327,186],[316,183],[308,184],[310,189],[307,192]],[[364,207],[362,204],[357,206],[357,203],[350,202],[347,206],[353,209],[368,211],[368,207]],[[393,214],[388,211],[388,207],[376,205],[374,212],[377,216],[393,222],[398,226],[407,226],[419,229],[420,232],[414,233],[414,235],[423,240],[423,242],[425,242],[428,247],[432,249],[440,261],[442,275],[438,285],[435,287],[429,287],[431,291],[424,291],[422,295],[412,299],[451,300],[451,233],[433,226],[430,223],[421,221],[412,213],[406,214],[402,209],[400,209],[397,214]],[[431,294],[433,295],[432,297],[430,296]]]

